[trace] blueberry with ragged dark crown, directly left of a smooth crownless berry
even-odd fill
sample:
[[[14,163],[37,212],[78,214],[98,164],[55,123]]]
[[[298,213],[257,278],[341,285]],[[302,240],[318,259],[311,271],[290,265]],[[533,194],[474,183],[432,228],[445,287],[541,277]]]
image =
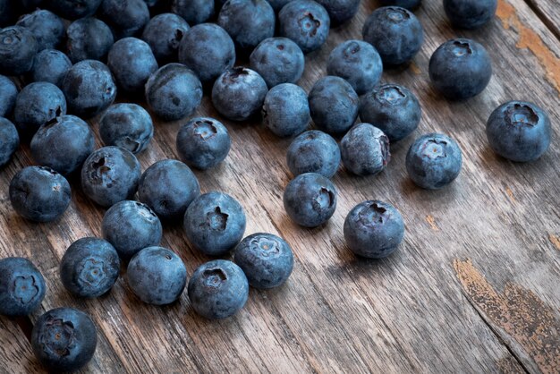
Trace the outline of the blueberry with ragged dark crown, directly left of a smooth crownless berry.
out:
[[[102,207],[131,199],[140,181],[140,163],[119,147],[93,152],[81,167],[81,189]]]

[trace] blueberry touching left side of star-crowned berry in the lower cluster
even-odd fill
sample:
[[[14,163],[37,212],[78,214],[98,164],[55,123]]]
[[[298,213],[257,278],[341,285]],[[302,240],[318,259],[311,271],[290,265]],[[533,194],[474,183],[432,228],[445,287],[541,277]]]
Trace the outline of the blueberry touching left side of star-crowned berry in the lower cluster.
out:
[[[105,240],[113,244],[119,257],[128,260],[144,248],[159,245],[162,226],[148,205],[123,200],[106,211],[101,232]]]

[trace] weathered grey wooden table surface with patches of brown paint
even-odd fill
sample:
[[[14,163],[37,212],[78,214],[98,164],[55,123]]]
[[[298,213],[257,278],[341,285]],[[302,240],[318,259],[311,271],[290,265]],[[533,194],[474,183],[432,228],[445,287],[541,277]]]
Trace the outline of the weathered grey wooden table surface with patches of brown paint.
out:
[[[450,27],[441,0],[424,0],[416,12],[425,29],[420,54],[410,68],[383,75],[420,98],[420,127],[391,147],[383,173],[356,177],[341,169],[335,175],[339,202],[327,225],[304,229],[284,213],[290,140],[260,123],[224,121],[233,147],[221,166],[196,173],[202,191],[241,200],[246,234],[279,234],[296,257],[287,284],[251,289],[246,307],[231,319],[199,318],[186,293],[163,308],[144,304],[124,273],[106,296],[72,298],[58,278],[59,261],[73,241],[100,236],[104,209],[72,180],[72,204],[59,221],[38,225],[15,215],[8,184],[32,163],[29,149],[19,150],[0,173],[0,257],[32,259],[48,292],[30,319],[0,318],[0,372],[42,371],[30,351],[30,328],[42,312],[60,306],[86,310],[98,326],[97,353],[83,372],[560,372],[560,4],[498,4],[495,20],[465,31]],[[361,25],[377,6],[362,1],[360,13],[306,57],[304,89],[326,74],[333,47],[361,38]],[[450,102],[430,86],[428,59],[458,36],[488,48],[494,76],[477,98]],[[510,99],[533,101],[551,116],[553,143],[536,162],[515,164],[488,148],[488,115]],[[208,96],[197,115],[217,116]],[[139,157],[142,169],[177,157],[181,124],[157,123]],[[97,131],[96,121],[91,125]],[[434,131],[459,142],[464,163],[454,183],[423,191],[408,179],[404,157],[414,138]],[[358,259],[344,244],[344,217],[369,199],[391,202],[405,220],[403,245],[387,259]],[[208,260],[186,242],[181,225],[165,227],[162,245],[179,253],[190,274]]]

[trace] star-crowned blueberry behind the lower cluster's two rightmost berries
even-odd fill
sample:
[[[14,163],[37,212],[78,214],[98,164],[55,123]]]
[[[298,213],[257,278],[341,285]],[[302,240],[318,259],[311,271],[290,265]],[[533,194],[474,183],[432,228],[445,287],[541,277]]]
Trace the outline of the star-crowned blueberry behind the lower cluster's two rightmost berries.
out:
[[[191,244],[208,256],[223,256],[242,240],[246,225],[241,204],[222,192],[208,192],[192,201],[183,226]]]

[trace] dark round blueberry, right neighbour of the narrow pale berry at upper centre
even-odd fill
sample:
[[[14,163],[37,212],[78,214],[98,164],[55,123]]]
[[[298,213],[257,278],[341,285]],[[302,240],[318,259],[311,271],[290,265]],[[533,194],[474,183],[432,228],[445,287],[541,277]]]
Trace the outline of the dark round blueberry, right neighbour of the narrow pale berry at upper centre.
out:
[[[319,130],[347,132],[358,118],[360,98],[352,86],[340,77],[319,79],[310,91],[310,113]]]

